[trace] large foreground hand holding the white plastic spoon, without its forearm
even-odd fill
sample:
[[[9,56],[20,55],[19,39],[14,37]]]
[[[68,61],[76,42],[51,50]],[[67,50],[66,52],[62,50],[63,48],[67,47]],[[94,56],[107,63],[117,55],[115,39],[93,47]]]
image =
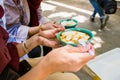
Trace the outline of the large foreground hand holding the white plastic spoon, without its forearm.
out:
[[[94,48],[90,44],[88,46],[88,49],[80,46],[72,47],[70,45],[54,49],[39,64],[43,65],[51,73],[60,71],[76,72],[95,57]],[[89,54],[88,51],[90,49],[93,50],[94,55]]]

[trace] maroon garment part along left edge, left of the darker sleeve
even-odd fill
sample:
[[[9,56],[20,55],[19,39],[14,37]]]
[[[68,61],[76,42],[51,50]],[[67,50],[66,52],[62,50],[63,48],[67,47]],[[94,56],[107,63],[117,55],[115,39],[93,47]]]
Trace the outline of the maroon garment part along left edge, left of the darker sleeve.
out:
[[[0,73],[4,70],[4,68],[11,60],[9,51],[6,47],[7,39],[8,33],[0,26]]]

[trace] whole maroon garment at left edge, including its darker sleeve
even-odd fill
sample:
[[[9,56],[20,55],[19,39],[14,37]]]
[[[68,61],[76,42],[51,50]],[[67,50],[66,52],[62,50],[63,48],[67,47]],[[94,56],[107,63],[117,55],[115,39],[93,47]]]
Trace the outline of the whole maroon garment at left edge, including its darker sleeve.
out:
[[[8,65],[15,71],[19,68],[19,56],[16,48],[16,43],[9,43],[6,46],[8,40],[8,33],[0,26],[0,73]]]

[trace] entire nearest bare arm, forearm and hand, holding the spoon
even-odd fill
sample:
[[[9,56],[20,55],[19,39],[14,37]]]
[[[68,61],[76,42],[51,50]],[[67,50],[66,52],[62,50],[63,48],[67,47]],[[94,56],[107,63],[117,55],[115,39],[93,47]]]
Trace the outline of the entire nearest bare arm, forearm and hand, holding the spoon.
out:
[[[95,55],[90,55],[87,51],[81,53],[79,48],[67,45],[52,50],[36,67],[19,78],[19,80],[45,80],[50,74],[55,72],[76,72],[80,70]]]

